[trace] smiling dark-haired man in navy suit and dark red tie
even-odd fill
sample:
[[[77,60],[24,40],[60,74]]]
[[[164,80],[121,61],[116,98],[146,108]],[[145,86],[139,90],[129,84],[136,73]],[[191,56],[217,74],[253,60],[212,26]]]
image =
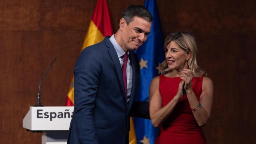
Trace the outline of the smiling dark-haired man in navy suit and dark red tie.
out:
[[[128,144],[130,116],[149,119],[148,102],[134,101],[140,80],[134,50],[146,41],[151,22],[144,6],[131,5],[116,34],[81,52],[68,144]]]

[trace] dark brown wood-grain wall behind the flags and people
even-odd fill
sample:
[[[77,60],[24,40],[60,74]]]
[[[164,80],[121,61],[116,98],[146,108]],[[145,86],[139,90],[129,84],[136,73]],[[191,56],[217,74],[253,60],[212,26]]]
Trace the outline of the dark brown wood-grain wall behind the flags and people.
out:
[[[114,30],[122,11],[144,0],[107,0]],[[198,63],[214,82],[209,144],[253,144],[255,0],[156,0],[164,36],[194,34]],[[0,0],[0,143],[40,144],[22,119],[36,104],[38,83],[57,57],[42,87],[44,106],[64,106],[96,0]]]

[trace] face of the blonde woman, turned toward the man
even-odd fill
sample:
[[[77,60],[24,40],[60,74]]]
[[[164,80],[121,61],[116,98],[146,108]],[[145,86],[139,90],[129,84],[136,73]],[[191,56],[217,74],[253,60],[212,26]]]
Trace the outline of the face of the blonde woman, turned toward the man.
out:
[[[176,42],[169,42],[166,48],[164,48],[164,52],[170,70],[177,70],[180,72],[184,68],[188,68],[188,62],[186,60],[190,58],[190,53],[186,53],[179,48]]]

